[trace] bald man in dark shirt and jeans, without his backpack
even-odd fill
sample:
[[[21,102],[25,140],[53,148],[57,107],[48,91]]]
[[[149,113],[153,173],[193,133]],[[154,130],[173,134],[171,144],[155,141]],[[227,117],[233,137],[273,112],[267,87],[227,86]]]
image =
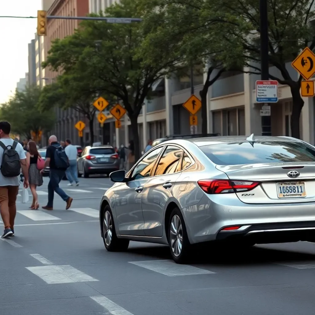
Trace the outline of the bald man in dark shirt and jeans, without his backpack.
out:
[[[44,210],[53,210],[54,192],[56,192],[65,202],[66,210],[71,207],[72,198],[69,197],[60,187],[59,183],[65,176],[66,169],[57,168],[54,160],[54,152],[60,147],[60,143],[55,135],[49,137],[49,147],[46,151],[45,167],[49,166],[49,183],[48,183],[48,203],[47,206],[43,206]]]

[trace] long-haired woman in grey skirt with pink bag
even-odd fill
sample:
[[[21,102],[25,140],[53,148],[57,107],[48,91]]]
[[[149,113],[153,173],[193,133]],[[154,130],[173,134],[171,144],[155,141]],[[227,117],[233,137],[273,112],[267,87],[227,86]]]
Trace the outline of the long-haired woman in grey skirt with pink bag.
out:
[[[36,142],[30,141],[28,143],[28,152],[26,152],[26,163],[28,168],[28,180],[33,196],[33,202],[30,207],[32,210],[37,210],[39,208],[36,188],[37,186],[43,185],[43,175],[37,168],[38,158],[40,159],[41,156],[37,151]]]

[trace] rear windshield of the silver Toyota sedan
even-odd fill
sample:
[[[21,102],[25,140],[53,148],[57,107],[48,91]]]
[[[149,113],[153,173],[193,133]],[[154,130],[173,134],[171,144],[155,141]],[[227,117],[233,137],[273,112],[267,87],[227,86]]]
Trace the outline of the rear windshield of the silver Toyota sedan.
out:
[[[256,141],[200,146],[215,164],[239,165],[257,163],[314,162],[315,150],[299,142]]]

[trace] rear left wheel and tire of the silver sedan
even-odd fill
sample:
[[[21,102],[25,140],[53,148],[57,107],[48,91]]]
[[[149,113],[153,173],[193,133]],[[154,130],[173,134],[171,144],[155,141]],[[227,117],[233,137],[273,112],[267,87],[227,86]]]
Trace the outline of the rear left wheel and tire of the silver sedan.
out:
[[[187,261],[191,244],[189,243],[184,218],[179,208],[173,209],[169,218],[169,249],[177,264]]]

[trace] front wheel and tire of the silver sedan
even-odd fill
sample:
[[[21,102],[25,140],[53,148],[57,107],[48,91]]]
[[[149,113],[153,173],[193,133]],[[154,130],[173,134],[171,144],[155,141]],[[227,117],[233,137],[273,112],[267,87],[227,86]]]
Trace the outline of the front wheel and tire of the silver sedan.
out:
[[[121,252],[128,249],[129,239],[117,238],[113,214],[109,205],[106,205],[103,210],[101,226],[103,229],[103,242],[109,252]]]

